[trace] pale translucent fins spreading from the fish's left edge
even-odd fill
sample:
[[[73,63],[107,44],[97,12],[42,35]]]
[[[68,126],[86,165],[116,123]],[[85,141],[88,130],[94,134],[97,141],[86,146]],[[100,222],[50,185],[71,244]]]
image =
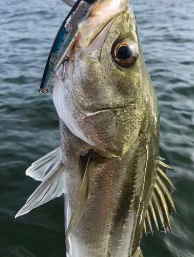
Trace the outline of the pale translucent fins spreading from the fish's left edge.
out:
[[[27,199],[15,218],[30,212],[47,201],[66,193],[66,174],[61,162],[61,148],[57,148],[43,158],[32,163],[26,175],[41,180],[41,185]]]

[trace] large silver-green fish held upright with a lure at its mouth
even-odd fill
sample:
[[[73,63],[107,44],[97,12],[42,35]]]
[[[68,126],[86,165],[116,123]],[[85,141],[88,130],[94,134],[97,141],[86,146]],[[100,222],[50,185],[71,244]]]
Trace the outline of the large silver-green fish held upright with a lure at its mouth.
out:
[[[32,163],[41,181],[16,217],[65,195],[67,257],[142,257],[143,233],[176,212],[160,156],[160,114],[128,0],[104,0],[79,24],[53,103],[61,146]]]

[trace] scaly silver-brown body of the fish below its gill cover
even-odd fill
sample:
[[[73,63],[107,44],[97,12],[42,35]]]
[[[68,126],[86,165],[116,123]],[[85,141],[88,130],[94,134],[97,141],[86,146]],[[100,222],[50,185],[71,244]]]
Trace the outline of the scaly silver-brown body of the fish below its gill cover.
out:
[[[77,159],[89,149],[69,134],[61,121],[64,164],[68,167],[66,231],[80,188]],[[128,257],[137,252],[157,175],[152,159],[157,151],[148,143],[149,136],[138,138],[122,160],[98,157],[92,162],[85,212],[66,242],[67,256]],[[75,148],[72,142],[76,143]]]

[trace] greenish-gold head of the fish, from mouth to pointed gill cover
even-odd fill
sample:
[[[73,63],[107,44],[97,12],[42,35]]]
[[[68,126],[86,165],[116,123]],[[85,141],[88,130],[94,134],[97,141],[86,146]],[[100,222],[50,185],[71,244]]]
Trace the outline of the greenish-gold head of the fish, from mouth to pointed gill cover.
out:
[[[79,28],[69,63],[74,118],[93,145],[122,158],[156,102],[135,16],[128,0],[105,0]]]

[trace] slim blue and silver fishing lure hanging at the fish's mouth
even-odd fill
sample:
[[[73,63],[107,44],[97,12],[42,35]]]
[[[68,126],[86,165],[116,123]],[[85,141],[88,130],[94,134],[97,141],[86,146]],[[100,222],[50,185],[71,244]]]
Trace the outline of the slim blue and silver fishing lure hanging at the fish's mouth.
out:
[[[62,0],[63,3],[72,8],[57,32],[50,49],[39,89],[41,94],[48,92],[47,87],[55,77],[57,69],[68,60],[68,50],[74,43],[77,33],[79,33],[78,24],[90,14],[90,10],[92,10],[99,1],[100,0],[78,0],[74,3],[72,0]]]

